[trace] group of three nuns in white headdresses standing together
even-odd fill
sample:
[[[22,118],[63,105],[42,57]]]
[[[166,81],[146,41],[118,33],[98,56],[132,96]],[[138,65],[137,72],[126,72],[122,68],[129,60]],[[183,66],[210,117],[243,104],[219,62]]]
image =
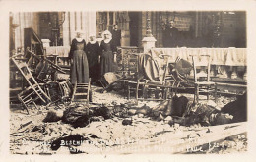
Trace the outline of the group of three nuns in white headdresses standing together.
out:
[[[86,43],[82,34],[77,31],[69,52],[70,80],[73,85],[76,82],[88,83],[89,78],[96,83],[105,73],[114,72],[116,64],[116,43],[110,31],[102,32],[101,42],[91,35]]]

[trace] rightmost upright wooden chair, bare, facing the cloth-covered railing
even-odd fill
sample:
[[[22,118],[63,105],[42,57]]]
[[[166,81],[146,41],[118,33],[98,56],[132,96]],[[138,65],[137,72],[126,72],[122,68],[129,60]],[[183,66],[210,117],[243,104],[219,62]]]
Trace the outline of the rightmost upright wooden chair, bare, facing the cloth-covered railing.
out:
[[[199,101],[200,93],[206,93],[207,100],[209,100],[209,94],[214,93],[216,102],[217,84],[216,82],[210,81],[211,57],[210,55],[201,55],[201,64],[199,64],[198,60],[197,56],[192,55],[195,85],[194,102],[197,103]],[[201,72],[197,72],[197,67],[201,67]]]

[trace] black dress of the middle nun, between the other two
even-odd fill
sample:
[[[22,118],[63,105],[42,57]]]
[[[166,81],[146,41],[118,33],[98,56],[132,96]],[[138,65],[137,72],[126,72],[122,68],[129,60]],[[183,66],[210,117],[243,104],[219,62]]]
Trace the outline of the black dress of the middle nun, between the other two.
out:
[[[99,44],[87,44],[87,58],[89,64],[89,77],[92,81],[100,78],[100,64],[99,64]]]

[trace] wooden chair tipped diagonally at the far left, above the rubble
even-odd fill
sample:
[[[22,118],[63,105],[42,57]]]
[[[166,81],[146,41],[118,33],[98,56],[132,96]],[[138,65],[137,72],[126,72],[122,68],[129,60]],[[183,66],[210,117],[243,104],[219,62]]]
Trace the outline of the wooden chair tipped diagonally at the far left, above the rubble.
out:
[[[42,90],[39,83],[33,78],[32,72],[29,69],[28,65],[25,62],[19,62],[15,60],[15,56],[11,59],[29,84],[29,87],[27,87],[24,91],[18,94],[18,99],[21,101],[28,114],[28,105],[32,103],[34,106],[36,106],[36,100],[39,99],[44,104],[48,104],[49,102],[51,102],[50,97]]]

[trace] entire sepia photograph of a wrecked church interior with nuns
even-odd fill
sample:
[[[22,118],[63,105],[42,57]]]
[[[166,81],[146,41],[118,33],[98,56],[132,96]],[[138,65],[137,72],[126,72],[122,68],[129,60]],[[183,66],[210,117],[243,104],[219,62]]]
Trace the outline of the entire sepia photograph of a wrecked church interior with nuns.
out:
[[[8,10],[8,154],[247,154],[249,14]]]

